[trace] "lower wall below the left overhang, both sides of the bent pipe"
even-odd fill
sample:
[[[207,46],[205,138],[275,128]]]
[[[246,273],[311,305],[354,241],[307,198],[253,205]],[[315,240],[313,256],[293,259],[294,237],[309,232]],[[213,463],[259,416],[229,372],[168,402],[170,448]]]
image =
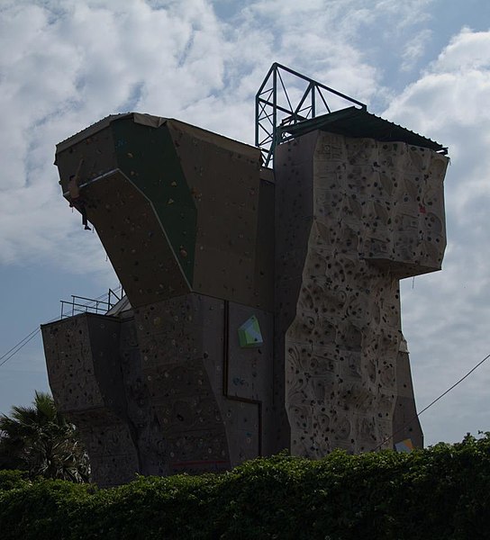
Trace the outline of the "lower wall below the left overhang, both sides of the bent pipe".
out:
[[[250,317],[263,341],[241,347]],[[274,444],[270,313],[191,293],[134,318],[170,472],[229,469]]]

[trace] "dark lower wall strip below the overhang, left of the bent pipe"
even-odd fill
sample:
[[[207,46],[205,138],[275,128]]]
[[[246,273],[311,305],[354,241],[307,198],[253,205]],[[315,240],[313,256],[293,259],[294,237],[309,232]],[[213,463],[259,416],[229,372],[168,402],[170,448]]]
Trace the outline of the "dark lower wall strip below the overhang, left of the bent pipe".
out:
[[[134,311],[141,374],[170,473],[230,467],[215,395],[222,385],[221,304],[188,294]]]

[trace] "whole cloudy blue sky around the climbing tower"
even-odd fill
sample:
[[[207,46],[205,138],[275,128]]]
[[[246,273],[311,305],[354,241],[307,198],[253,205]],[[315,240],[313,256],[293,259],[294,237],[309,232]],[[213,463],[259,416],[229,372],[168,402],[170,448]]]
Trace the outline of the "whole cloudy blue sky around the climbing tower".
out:
[[[0,356],[59,300],[117,285],[60,196],[56,143],[139,111],[253,144],[274,61],[449,147],[443,271],[402,284],[419,409],[490,353],[487,0],[0,0]],[[423,413],[426,443],[490,430],[489,386],[490,360]],[[35,389],[40,335],[0,366],[0,411]]]

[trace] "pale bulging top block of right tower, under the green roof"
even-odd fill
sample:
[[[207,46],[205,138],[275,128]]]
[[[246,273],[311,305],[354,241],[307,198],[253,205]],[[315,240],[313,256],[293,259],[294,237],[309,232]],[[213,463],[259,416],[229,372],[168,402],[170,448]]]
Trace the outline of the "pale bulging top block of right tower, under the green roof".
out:
[[[398,279],[440,270],[448,157],[403,142],[322,132],[316,150],[325,209],[341,217],[358,257]],[[341,189],[330,189],[335,180]]]

